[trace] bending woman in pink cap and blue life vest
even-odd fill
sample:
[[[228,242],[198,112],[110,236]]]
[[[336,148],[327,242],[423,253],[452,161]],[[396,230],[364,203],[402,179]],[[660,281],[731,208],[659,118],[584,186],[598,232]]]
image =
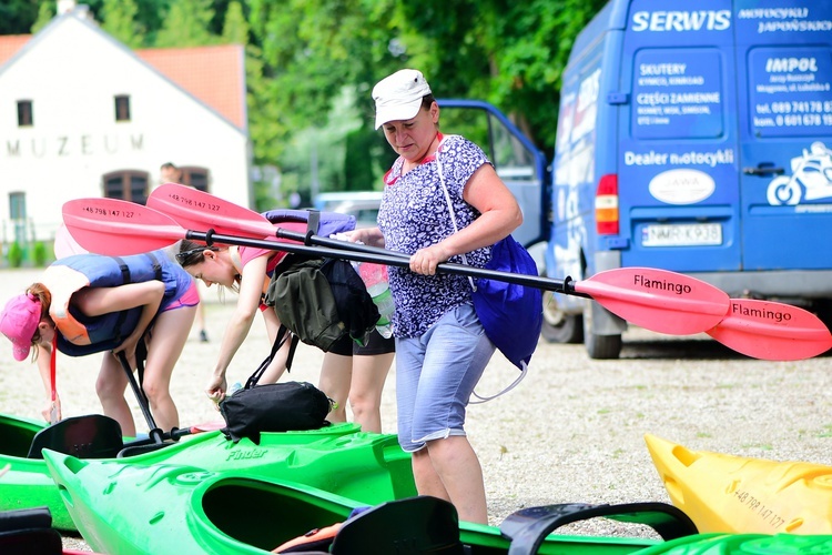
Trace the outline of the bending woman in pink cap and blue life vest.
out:
[[[196,312],[196,283],[163,251],[133,256],[75,254],[53,262],[40,282],[12,297],[0,313],[0,332],[13,345],[18,361],[38,362],[50,407],[48,420],[60,420],[60,397],[52,393],[55,347],[70,356],[112,351],[104,355],[95,382],[103,412],[135,435],[124,398],[128,375],[116,355],[136,367],[136,349],[146,347],[143,390],[155,423],[179,426],[171,398],[173,366],[187,340]],[[50,415],[50,413],[53,413]]]

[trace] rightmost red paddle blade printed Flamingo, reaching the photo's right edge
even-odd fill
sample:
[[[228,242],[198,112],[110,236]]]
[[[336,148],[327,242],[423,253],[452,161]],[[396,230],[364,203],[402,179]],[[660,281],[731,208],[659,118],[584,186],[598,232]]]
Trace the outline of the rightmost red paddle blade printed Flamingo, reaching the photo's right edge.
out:
[[[811,312],[753,299],[730,302],[728,315],[708,335],[739,353],[764,361],[800,361],[832,349],[832,334]]]

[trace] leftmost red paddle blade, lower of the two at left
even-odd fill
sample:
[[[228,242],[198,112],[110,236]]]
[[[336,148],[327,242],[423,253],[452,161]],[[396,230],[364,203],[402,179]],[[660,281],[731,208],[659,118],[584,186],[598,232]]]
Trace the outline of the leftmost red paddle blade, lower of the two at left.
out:
[[[63,204],[63,223],[90,252],[110,256],[139,254],[185,238],[170,216],[118,199],[77,199]]]

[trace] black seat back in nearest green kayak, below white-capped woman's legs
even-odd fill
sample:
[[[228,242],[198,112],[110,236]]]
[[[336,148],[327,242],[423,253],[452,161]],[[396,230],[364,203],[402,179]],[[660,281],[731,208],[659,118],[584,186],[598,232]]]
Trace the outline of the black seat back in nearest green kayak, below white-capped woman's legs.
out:
[[[335,534],[331,553],[456,555],[465,552],[454,505],[419,495],[383,503],[349,518]]]

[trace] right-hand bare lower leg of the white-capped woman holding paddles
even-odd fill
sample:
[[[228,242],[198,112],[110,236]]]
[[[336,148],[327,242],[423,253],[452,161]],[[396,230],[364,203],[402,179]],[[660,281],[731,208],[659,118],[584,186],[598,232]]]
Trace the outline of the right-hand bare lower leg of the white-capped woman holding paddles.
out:
[[[459,519],[488,524],[483,467],[468,438],[451,435],[434,440],[428,442],[427,451]]]

